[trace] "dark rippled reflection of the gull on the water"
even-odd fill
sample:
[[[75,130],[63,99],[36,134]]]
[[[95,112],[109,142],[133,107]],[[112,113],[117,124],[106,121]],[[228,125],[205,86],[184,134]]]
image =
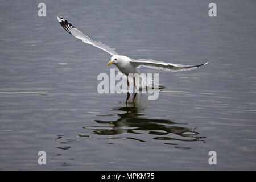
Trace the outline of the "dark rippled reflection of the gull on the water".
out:
[[[143,110],[148,108],[148,100],[143,99],[142,94],[127,94],[126,101],[121,103],[123,106],[115,107],[112,109],[119,118],[115,121],[94,120],[100,126],[85,126],[84,129],[88,133],[94,133],[97,135],[108,135],[109,139],[135,139],[141,142],[146,142],[140,139],[139,134],[148,133],[154,135],[156,140],[164,140],[165,142],[170,140],[179,141],[199,141],[199,133],[195,129],[184,127],[185,123],[176,123],[168,119],[154,119],[146,118],[145,114],[142,114]],[[113,117],[111,115],[97,115],[98,117]],[[115,116],[115,115],[114,115]],[[179,126],[181,125],[181,126]],[[86,132],[85,132],[86,133]],[[121,134],[127,134],[129,137],[123,137]],[[164,143],[173,144],[173,143]]]

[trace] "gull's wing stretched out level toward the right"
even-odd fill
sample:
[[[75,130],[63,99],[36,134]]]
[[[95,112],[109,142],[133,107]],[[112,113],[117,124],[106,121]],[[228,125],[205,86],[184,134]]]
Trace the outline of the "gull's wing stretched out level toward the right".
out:
[[[178,72],[178,71],[185,71],[185,70],[192,70],[199,68],[205,64],[208,64],[210,61],[204,64],[199,65],[182,65],[182,64],[173,64],[173,63],[166,63],[161,61],[156,61],[152,59],[137,59],[132,60],[130,63],[134,65],[136,68],[140,67],[147,67],[152,69],[159,69],[163,71],[171,71],[171,72]]]

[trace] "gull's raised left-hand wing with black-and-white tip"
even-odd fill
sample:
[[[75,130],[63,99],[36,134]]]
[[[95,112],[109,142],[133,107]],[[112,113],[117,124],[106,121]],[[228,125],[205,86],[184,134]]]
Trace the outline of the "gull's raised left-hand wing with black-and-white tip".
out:
[[[57,17],[59,23],[61,24],[61,26],[67,31],[69,32],[69,34],[75,36],[77,39],[82,40],[82,42],[90,44],[92,46],[95,46],[97,48],[102,49],[103,51],[108,52],[110,55],[114,56],[114,55],[118,55],[117,52],[115,52],[115,48],[112,48],[110,46],[107,46],[101,42],[96,42],[93,41],[92,39],[89,38],[89,36],[86,36],[84,34],[82,34],[81,31],[79,31],[76,27],[72,26],[71,23],[69,23],[67,21],[67,19],[63,19],[61,16],[60,18]]]

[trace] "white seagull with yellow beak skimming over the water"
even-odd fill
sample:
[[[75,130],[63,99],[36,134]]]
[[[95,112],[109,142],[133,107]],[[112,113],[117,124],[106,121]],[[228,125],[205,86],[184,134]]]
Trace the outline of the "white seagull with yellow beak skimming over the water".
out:
[[[114,64],[120,72],[122,72],[127,77],[127,86],[129,86],[129,74],[135,74],[140,72],[138,71],[138,68],[140,67],[147,67],[152,69],[158,69],[162,71],[171,71],[171,72],[178,72],[178,71],[188,71],[192,69],[199,68],[205,64],[210,63],[208,61],[204,64],[199,65],[182,65],[182,64],[173,64],[173,63],[166,63],[163,61],[156,61],[152,59],[131,59],[127,56],[119,55],[115,48],[112,48],[110,46],[107,46],[106,44],[103,44],[101,42],[96,42],[89,38],[89,36],[83,34],[81,31],[79,31],[75,26],[73,26],[71,23],[68,22],[67,19],[63,19],[61,16],[60,18],[57,17],[57,20],[61,24],[61,26],[64,28],[65,31],[67,31],[69,34],[75,36],[75,38],[82,40],[82,42],[86,44],[90,44],[92,46],[95,46],[97,48],[102,49],[105,52],[108,52],[110,55],[112,55],[108,65]],[[133,77],[134,87],[137,89],[135,85],[135,77]]]

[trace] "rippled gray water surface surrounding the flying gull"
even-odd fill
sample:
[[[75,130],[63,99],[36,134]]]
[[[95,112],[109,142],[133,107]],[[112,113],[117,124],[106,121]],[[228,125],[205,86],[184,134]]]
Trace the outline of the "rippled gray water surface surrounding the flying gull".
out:
[[[256,169],[255,1],[1,1],[0,169]],[[212,63],[158,73],[157,100],[99,94],[108,53]],[[46,165],[38,164],[46,151]],[[209,151],[217,165],[209,165]]]

